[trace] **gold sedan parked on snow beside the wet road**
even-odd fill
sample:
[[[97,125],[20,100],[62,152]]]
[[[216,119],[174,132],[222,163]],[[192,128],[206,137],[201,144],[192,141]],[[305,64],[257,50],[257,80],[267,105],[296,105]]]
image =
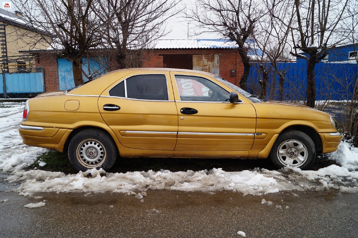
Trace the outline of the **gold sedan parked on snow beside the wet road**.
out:
[[[270,157],[278,168],[307,169],[342,140],[322,111],[262,101],[210,73],[159,68],[29,99],[19,133],[26,145],[67,151],[78,170],[109,169],[117,155]]]

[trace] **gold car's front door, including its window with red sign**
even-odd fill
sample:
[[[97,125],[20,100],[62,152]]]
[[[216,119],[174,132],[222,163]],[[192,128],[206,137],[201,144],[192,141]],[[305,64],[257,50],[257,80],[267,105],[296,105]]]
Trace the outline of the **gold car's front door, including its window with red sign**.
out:
[[[206,75],[170,72],[178,140],[175,150],[241,151],[247,156],[256,127],[256,111],[248,100],[229,102],[231,89]]]

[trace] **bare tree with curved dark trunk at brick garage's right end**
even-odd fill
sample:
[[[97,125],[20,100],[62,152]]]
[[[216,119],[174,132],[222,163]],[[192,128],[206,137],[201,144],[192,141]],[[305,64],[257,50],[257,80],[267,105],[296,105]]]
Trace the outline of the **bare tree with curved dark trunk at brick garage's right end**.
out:
[[[188,10],[186,17],[195,21],[199,32],[212,32],[222,35],[237,44],[237,51],[244,65],[240,86],[246,90],[250,73],[250,56],[247,40],[252,38],[257,21],[263,16],[261,6],[253,0],[198,0],[195,9]]]

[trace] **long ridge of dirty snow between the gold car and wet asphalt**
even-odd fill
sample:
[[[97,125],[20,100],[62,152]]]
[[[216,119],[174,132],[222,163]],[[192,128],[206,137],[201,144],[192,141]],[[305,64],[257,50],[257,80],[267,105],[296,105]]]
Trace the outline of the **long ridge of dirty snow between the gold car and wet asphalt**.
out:
[[[89,177],[88,175],[92,176]],[[23,182],[16,189],[22,193],[34,192],[121,192],[130,193],[138,199],[146,193],[133,191],[145,190],[182,190],[214,191],[231,190],[243,194],[276,193],[289,189],[285,178],[277,171],[256,169],[241,172],[225,172],[221,168],[186,172],[169,170],[127,173],[106,173],[104,170],[91,169],[78,174],[47,172],[42,170],[15,170],[7,179],[9,182]],[[291,188],[294,185],[290,186]],[[299,187],[297,187],[299,189]]]

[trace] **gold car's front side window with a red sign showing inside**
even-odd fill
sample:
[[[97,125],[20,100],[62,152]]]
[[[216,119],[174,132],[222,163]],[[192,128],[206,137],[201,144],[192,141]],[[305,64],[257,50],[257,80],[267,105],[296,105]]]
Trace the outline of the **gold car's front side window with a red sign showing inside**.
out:
[[[175,75],[181,101],[229,101],[230,93],[211,80],[189,75]]]

